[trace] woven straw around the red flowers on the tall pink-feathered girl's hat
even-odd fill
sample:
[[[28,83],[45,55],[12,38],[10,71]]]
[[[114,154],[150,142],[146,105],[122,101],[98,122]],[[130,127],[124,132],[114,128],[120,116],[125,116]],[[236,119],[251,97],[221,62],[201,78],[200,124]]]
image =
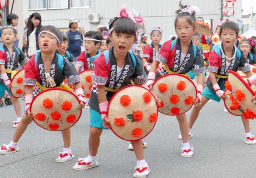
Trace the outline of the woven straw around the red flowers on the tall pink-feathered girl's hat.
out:
[[[184,88],[184,90],[177,89],[177,84],[180,81],[184,81],[186,83],[186,88]],[[158,86],[161,83],[167,84],[168,89],[166,92],[160,92],[160,90],[158,89]],[[180,115],[187,112],[193,106],[193,103],[187,105],[185,103],[185,100],[188,96],[192,96],[193,100],[195,101],[197,96],[196,86],[194,85],[193,81],[186,76],[177,73],[167,74],[158,78],[153,84],[152,90],[155,95],[157,95],[158,99],[164,102],[164,106],[158,108],[158,111],[165,115]],[[170,96],[172,96],[173,94],[178,95],[179,102],[170,102]],[[180,112],[178,114],[173,114],[171,113],[172,108],[179,108]]]

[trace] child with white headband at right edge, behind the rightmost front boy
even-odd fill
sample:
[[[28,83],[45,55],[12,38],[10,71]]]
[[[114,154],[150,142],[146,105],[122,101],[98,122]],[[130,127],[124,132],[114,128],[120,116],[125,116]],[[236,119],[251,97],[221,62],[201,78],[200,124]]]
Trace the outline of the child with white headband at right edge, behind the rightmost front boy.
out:
[[[247,61],[250,64],[256,65],[256,58],[255,55],[253,55],[253,53],[255,53],[255,44],[252,39],[242,39],[238,44],[238,48],[242,50],[244,56],[247,58]]]

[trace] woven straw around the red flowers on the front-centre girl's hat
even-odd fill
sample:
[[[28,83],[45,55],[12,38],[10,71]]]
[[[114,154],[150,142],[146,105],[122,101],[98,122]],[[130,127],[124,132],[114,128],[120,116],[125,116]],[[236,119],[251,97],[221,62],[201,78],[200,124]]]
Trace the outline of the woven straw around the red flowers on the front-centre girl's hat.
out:
[[[143,99],[143,94],[148,92],[151,96],[150,102],[146,103]],[[147,93],[147,94],[148,94]],[[128,106],[123,106],[120,102],[122,96],[128,95],[131,103]],[[143,117],[140,121],[133,121],[132,114],[136,111],[141,111]],[[155,126],[156,121],[150,122],[150,116],[155,113],[157,118],[157,105],[152,94],[142,86],[130,85],[116,92],[109,100],[108,119],[111,130],[119,138],[127,141],[136,141],[147,136]],[[116,119],[123,118],[124,125],[118,126]],[[133,131],[141,130],[141,135],[134,136]]]

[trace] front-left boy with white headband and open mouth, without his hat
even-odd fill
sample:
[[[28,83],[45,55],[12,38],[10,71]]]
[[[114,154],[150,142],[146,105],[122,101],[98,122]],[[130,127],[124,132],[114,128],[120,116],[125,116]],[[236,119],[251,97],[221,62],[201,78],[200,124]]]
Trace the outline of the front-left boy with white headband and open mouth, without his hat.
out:
[[[19,151],[19,148],[17,148],[18,141],[27,126],[33,121],[32,118],[35,118],[29,111],[35,85],[41,90],[54,87],[68,89],[68,86],[62,84],[66,76],[68,84],[75,85],[76,95],[80,100],[79,109],[84,106],[83,103],[85,99],[81,88],[81,79],[75,67],[65,57],[56,53],[56,49],[61,46],[61,42],[62,34],[56,27],[49,25],[41,29],[38,41],[41,52],[32,56],[25,67],[24,85],[26,85],[26,112],[14,132],[12,141],[10,144],[4,144],[1,147],[0,154],[9,154]],[[59,66],[59,64],[61,64],[61,66]],[[62,131],[64,147],[63,152],[60,152],[59,157],[55,159],[56,162],[66,162],[74,158],[70,148],[70,135],[70,129]]]

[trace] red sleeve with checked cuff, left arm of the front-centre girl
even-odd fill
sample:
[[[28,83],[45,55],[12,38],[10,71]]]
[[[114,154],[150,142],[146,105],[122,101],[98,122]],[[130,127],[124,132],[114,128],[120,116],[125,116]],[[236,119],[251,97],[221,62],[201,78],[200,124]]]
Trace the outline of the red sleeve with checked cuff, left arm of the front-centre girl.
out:
[[[97,85],[106,85],[108,82],[108,75],[108,65],[106,65],[104,53],[101,53],[101,55],[94,60],[92,81]]]

